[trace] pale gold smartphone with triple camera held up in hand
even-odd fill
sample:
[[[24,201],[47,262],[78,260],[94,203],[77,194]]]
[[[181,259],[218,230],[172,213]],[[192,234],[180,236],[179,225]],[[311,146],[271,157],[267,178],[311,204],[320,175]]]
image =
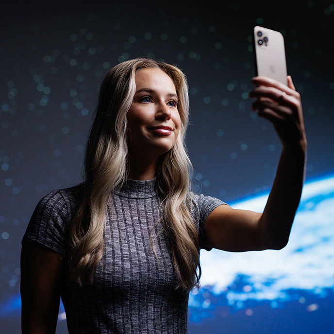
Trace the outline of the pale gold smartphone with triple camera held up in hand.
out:
[[[255,75],[264,75],[287,85],[282,33],[255,26],[252,37]]]

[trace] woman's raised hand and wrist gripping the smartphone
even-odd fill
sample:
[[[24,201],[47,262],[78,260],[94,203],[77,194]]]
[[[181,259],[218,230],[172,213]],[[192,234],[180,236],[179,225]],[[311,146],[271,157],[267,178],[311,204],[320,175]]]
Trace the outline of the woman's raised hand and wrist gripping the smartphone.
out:
[[[252,110],[258,110],[259,117],[274,125],[284,147],[298,145],[306,150],[301,96],[296,92],[291,76],[287,77],[287,86],[263,76],[254,77],[251,81],[256,87],[249,97],[258,98],[252,103]]]

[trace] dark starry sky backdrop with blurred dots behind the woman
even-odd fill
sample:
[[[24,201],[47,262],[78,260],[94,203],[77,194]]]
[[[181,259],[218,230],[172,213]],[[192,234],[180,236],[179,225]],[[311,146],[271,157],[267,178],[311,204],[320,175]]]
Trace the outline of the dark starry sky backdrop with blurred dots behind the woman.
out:
[[[333,172],[334,4],[298,4],[18,1],[2,6],[0,303],[19,292],[20,241],[38,200],[82,180],[100,83],[124,60],[154,57],[187,75],[187,147],[195,183],[202,193],[229,202],[266,191],[273,182],[281,144],[271,124],[250,110],[250,36],[255,25],[280,31],[288,74],[303,103],[306,178]],[[19,311],[0,323],[7,333],[18,332]],[[57,333],[67,333],[64,323]]]

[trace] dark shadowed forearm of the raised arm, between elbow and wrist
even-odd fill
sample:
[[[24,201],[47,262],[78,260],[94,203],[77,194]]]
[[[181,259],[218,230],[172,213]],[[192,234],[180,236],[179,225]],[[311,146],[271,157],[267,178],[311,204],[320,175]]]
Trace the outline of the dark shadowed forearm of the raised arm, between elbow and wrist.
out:
[[[301,199],[306,162],[306,140],[285,146],[259,226],[270,249],[283,248]]]

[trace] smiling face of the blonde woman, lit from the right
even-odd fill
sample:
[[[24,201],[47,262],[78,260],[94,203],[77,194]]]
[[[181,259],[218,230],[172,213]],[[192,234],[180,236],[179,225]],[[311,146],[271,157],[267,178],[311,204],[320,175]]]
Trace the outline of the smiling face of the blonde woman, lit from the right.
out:
[[[142,68],[135,75],[136,92],[128,112],[128,150],[159,156],[179,135],[178,97],[170,77],[159,68]]]

